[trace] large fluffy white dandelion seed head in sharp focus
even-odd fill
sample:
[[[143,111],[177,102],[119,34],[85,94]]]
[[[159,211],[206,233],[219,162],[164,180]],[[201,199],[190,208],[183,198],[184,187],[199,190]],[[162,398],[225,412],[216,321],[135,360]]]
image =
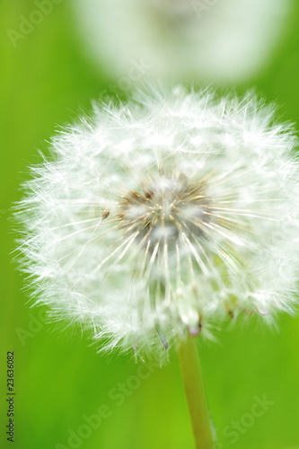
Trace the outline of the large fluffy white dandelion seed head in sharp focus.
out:
[[[32,169],[20,219],[36,304],[104,348],[162,357],[227,316],[291,313],[295,136],[250,95],[98,104]]]

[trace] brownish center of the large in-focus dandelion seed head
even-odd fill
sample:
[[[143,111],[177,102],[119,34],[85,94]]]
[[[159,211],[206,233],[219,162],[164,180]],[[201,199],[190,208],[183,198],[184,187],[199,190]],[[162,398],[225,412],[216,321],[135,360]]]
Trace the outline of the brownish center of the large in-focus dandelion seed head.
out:
[[[210,217],[211,201],[203,182],[186,177],[161,177],[130,190],[119,202],[119,227],[137,233],[145,246],[157,241],[176,242],[180,233],[203,236]]]

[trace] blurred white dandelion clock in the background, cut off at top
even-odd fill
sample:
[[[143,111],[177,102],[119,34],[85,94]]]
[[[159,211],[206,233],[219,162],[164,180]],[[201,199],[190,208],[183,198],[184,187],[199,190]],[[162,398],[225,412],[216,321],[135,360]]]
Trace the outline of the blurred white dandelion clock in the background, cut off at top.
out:
[[[238,83],[266,66],[292,0],[75,0],[92,58],[128,90],[171,75]]]

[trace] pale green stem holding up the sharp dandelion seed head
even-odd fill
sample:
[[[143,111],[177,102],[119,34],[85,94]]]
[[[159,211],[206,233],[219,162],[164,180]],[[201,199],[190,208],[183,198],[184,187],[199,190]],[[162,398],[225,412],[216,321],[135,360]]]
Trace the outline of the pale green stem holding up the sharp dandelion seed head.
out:
[[[194,337],[188,336],[188,339],[180,342],[178,356],[196,448],[214,449],[215,443]]]

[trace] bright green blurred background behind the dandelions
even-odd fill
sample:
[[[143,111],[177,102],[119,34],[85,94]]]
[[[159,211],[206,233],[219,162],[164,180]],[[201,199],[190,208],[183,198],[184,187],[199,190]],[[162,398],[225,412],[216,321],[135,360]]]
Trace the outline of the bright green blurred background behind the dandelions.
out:
[[[110,90],[98,66],[85,55],[76,30],[71,0],[54,10],[13,48],[7,29],[18,30],[20,15],[28,17],[34,2],[1,0],[0,90],[2,112],[1,154],[1,360],[0,447],[7,424],[6,352],[15,357],[15,442],[17,449],[82,447],[88,449],[189,449],[193,447],[188,409],[175,354],[171,364],[155,369],[121,405],[110,398],[119,383],[131,382],[138,365],[131,357],[100,357],[88,336],[46,323],[43,311],[32,310],[22,291],[23,279],[15,269],[13,201],[28,178],[27,167],[47,152],[47,141],[57,124],[73,121],[89,110],[92,99]],[[278,115],[299,124],[299,4],[271,64],[240,85],[251,85],[268,101],[277,101]],[[225,329],[219,342],[200,345],[207,394],[219,441],[225,449],[299,448],[299,318],[283,316],[279,332],[250,322]],[[115,392],[115,390],[113,390]],[[251,418],[256,396],[274,402],[265,413]],[[119,400],[120,402],[120,400]],[[110,417],[91,435],[68,444],[69,431],[84,432],[84,415],[97,413],[102,404]],[[246,417],[247,418],[244,418]],[[233,421],[247,422],[238,441]],[[244,427],[242,427],[244,428]],[[59,446],[60,444],[62,446]]]

